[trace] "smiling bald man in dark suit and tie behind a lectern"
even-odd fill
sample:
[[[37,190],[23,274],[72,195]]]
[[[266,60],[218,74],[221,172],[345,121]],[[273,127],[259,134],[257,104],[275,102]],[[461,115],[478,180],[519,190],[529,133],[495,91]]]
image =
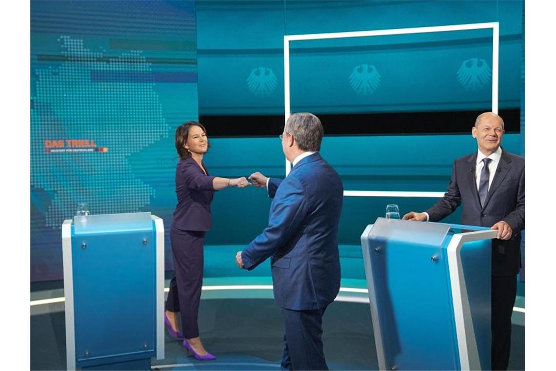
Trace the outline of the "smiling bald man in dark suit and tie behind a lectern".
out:
[[[404,219],[439,221],[463,204],[461,224],[498,230],[492,241],[491,362],[493,370],[505,370],[525,228],[525,159],[500,147],[504,121],[495,113],[481,113],[471,135],[478,151],[454,161],[448,192],[430,209],[408,212]]]

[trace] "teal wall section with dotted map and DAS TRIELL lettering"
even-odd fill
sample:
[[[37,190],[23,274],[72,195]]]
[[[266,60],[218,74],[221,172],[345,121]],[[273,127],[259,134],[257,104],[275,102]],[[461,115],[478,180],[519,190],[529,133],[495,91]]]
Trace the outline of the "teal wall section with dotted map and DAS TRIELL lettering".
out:
[[[170,225],[173,133],[197,118],[195,23],[193,0],[31,1],[31,281],[62,279],[80,202]]]

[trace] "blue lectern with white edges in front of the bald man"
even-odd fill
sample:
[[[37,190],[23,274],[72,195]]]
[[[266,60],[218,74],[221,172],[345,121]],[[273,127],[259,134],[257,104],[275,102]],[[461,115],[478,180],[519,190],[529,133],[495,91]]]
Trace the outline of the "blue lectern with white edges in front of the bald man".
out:
[[[490,369],[485,227],[379,217],[361,235],[381,370]]]

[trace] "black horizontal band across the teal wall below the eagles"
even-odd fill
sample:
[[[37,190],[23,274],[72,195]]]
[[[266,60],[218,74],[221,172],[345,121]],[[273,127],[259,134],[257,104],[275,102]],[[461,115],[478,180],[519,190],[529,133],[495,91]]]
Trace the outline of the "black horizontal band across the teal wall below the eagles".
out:
[[[485,110],[381,112],[320,115],[325,135],[441,135],[470,133]],[[506,133],[519,133],[520,109],[500,110]],[[200,115],[211,137],[277,136],[284,130],[281,115]]]

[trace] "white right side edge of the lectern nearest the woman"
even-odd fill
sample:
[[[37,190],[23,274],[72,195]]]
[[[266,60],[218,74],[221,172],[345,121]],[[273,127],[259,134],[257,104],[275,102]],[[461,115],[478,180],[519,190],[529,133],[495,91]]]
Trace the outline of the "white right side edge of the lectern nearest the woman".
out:
[[[156,359],[164,359],[164,222],[151,218],[156,233]]]

